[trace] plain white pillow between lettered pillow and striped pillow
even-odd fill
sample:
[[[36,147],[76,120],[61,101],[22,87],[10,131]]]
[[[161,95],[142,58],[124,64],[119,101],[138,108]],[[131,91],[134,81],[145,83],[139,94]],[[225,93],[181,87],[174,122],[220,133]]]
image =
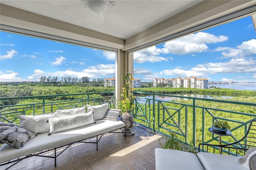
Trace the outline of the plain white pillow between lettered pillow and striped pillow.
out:
[[[98,105],[98,106],[87,105],[86,107],[87,107],[88,111],[93,111],[94,121],[102,119],[108,111],[108,104],[107,103],[105,103],[103,105]]]

